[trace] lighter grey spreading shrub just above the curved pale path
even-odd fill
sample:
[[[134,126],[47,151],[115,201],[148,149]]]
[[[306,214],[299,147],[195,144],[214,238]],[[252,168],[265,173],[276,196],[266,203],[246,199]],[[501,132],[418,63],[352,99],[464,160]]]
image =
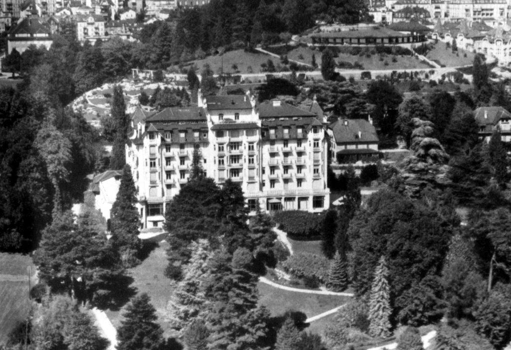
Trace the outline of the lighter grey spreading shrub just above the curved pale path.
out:
[[[317,278],[319,283],[328,279],[330,262],[327,258],[310,253],[298,253],[291,255],[282,263],[284,270],[295,278]],[[310,281],[309,281],[310,282]]]

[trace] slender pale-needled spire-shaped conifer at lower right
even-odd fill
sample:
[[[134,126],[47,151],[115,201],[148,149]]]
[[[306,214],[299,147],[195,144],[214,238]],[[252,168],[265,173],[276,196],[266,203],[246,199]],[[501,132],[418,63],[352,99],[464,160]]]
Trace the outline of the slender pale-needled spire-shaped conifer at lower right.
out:
[[[390,335],[390,287],[388,268],[385,257],[381,257],[375,270],[373,285],[369,298],[369,334],[373,337],[386,338]]]

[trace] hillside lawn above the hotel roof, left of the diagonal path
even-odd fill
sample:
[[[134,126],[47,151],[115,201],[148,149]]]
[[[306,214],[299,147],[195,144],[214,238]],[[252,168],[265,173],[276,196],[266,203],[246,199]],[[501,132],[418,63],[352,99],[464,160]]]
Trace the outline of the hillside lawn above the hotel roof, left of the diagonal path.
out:
[[[262,53],[250,53],[244,50],[228,51],[222,56],[208,56],[203,60],[195,60],[189,62],[189,64],[196,64],[199,68],[199,72],[205,63],[208,63],[215,73],[220,73],[222,67],[223,58],[223,71],[225,73],[235,74],[236,70],[233,69],[233,65],[238,66],[240,73],[259,73],[261,71],[261,64],[266,63],[268,59],[271,59],[275,65],[280,63],[280,60]],[[249,68],[250,67],[250,68]]]

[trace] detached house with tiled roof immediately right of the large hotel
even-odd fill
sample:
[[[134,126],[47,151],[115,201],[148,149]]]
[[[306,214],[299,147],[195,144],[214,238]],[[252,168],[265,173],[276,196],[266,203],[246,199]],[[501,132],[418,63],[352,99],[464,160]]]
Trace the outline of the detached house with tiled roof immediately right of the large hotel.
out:
[[[333,163],[376,162],[380,159],[378,135],[365,119],[339,119],[328,126]]]

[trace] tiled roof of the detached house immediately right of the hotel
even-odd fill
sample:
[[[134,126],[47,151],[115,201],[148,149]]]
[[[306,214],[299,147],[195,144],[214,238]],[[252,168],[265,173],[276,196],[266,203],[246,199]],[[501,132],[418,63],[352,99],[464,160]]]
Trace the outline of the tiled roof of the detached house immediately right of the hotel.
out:
[[[365,119],[339,119],[328,128],[338,144],[379,141],[375,127]]]

